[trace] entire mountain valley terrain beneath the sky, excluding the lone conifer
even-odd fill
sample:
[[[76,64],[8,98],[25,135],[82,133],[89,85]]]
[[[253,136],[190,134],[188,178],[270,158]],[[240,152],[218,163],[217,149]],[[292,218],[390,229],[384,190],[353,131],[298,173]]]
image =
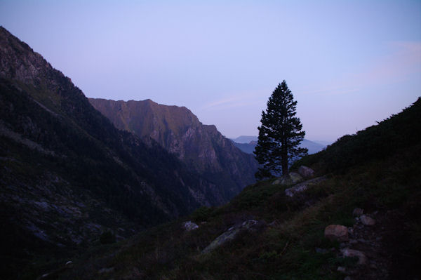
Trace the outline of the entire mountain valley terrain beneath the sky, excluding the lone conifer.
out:
[[[86,98],[0,27],[1,279],[417,279],[420,119],[418,98],[303,140],[290,175],[257,182],[255,136]]]

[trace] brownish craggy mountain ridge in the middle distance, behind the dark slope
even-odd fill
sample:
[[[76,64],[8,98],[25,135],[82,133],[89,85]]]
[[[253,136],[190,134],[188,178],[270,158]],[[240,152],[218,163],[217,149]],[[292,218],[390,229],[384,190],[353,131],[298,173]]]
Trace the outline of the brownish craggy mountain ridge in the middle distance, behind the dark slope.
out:
[[[257,162],[225,138],[215,126],[201,124],[186,107],[159,105],[152,100],[89,101],[114,126],[141,138],[152,138],[212,182],[222,204],[255,182]]]

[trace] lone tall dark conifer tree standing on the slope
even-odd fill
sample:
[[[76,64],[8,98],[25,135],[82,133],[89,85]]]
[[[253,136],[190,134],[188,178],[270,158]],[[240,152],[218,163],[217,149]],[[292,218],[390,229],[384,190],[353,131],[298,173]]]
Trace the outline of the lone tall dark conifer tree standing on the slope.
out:
[[[302,124],[295,116],[296,109],[297,101],[283,80],[269,97],[266,112],[262,111],[258,145],[254,152],[260,164],[256,178],[279,173],[287,175],[288,163],[307,154],[307,149],[299,147],[305,131],[301,131]]]

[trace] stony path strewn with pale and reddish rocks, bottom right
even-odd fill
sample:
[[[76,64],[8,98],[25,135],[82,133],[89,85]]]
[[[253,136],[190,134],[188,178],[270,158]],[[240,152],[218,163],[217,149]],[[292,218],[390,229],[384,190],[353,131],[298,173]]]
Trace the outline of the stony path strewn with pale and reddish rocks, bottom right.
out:
[[[361,208],[356,208],[354,215],[353,227],[347,228],[347,237],[342,236],[347,240],[340,243],[339,251],[331,249],[338,257],[358,258],[356,265],[338,267],[345,280],[421,279],[420,269],[406,259],[402,244],[408,242],[401,236],[404,232],[396,234],[397,230],[403,229],[399,227],[403,222],[400,211],[374,211],[364,215]],[[316,251],[327,252],[320,248]]]

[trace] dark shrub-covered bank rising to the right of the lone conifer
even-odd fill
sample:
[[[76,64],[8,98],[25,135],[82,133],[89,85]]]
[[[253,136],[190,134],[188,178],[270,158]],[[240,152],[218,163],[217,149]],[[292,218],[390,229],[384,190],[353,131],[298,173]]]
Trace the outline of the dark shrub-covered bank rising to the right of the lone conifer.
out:
[[[325,150],[305,157],[300,164],[319,164],[326,171],[363,164],[385,157],[421,142],[421,98],[399,114],[380,121],[354,135],[345,135]]]

